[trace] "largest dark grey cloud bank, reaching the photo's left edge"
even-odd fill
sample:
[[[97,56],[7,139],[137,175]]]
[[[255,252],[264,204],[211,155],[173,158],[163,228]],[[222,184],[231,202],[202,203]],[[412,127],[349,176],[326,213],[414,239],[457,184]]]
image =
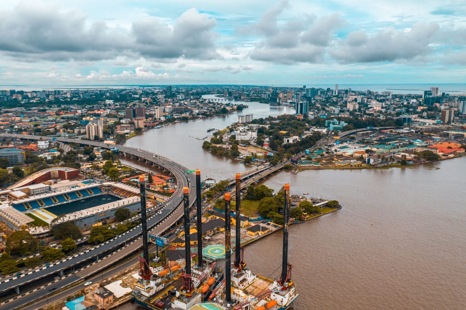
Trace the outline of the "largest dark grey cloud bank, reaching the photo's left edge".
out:
[[[21,61],[100,61],[126,56],[158,61],[219,58],[213,31],[217,21],[196,9],[174,25],[154,17],[134,21],[130,29],[89,23],[78,9],[57,3],[27,2],[0,11],[0,51]]]

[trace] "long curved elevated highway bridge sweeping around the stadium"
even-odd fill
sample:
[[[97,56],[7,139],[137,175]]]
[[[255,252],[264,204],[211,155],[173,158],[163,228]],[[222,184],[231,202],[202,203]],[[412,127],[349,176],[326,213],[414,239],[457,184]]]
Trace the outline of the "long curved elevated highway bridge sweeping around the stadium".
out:
[[[52,140],[51,137],[43,137],[36,135],[0,134],[0,136],[20,138],[26,140]],[[152,234],[163,234],[164,231],[169,229],[171,225],[176,223],[177,220],[183,216],[183,208],[180,208],[183,199],[183,187],[191,187],[189,201],[190,204],[195,202],[195,176],[193,174],[187,174],[186,171],[188,169],[186,167],[176,162],[173,162],[168,158],[138,148],[132,148],[123,145],[115,146],[98,141],[87,141],[69,138],[56,138],[56,141],[89,145],[107,149],[117,147],[119,148],[120,152],[126,155],[131,155],[132,157],[137,158],[139,160],[143,160],[145,162],[151,162],[155,166],[163,167],[164,169],[170,171],[170,173],[176,178],[178,187],[176,191],[173,193],[173,195],[171,195],[171,197],[167,201],[163,202],[161,206],[162,215],[160,217],[154,215],[148,218],[147,226],[148,229],[151,229]],[[16,289],[16,293],[19,294],[21,286],[54,274],[60,274],[60,276],[64,276],[65,270],[68,270],[71,267],[76,266],[78,264],[82,264],[88,261],[90,258],[96,258],[96,261],[99,262],[99,264],[97,265],[98,268],[94,267],[92,269],[94,272],[98,272],[106,268],[108,265],[118,262],[125,256],[128,256],[130,253],[137,251],[142,246],[142,243],[140,242],[140,235],[141,228],[140,225],[138,225],[137,227],[130,229],[122,235],[116,236],[105,243],[101,243],[93,248],[83,250],[79,253],[74,254],[73,256],[64,257],[61,260],[50,263],[48,266],[41,266],[40,268],[36,268],[34,270],[28,270],[27,273],[21,274],[19,276],[9,275],[0,280],[0,293],[6,293],[9,290]],[[137,240],[137,242],[135,242],[135,240]],[[102,258],[104,253],[108,253],[111,250],[117,250],[123,246],[125,247],[124,251],[116,251]],[[66,278],[63,278],[63,283],[54,283],[54,285],[58,284],[60,285],[60,287],[64,287],[62,286],[62,284],[68,285],[70,278],[72,277],[67,276]],[[27,299],[34,298],[34,292],[27,292],[25,294],[27,294],[27,296],[30,297]],[[40,298],[42,296],[43,292],[40,292],[37,294],[36,297]],[[14,299],[17,299],[19,297],[21,296],[17,296]],[[23,300],[23,303],[24,302],[26,301]],[[0,303],[0,309],[12,309],[11,306],[11,304],[7,305],[5,303]]]

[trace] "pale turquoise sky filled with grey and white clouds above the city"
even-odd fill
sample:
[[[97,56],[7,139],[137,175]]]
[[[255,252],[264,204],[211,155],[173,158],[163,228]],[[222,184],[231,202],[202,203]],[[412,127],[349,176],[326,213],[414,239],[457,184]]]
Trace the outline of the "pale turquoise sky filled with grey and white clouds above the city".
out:
[[[465,0],[1,0],[0,85],[465,82]]]

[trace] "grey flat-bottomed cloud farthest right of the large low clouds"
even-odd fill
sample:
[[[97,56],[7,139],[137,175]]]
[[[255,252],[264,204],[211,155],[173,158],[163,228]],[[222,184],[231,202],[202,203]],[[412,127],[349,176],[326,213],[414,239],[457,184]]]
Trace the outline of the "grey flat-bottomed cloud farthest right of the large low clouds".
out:
[[[371,37],[355,31],[337,40],[329,54],[340,63],[411,60],[433,51],[429,43],[438,31],[437,23],[418,23],[407,32],[388,27]]]

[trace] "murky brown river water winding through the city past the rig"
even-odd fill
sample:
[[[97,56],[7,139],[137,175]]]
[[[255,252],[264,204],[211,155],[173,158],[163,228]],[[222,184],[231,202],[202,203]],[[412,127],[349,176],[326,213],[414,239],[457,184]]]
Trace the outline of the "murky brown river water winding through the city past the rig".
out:
[[[292,113],[246,104],[243,113],[254,118]],[[152,129],[126,143],[219,181],[247,167],[206,152],[202,138],[207,128],[225,128],[236,117]],[[463,157],[407,168],[280,171],[267,177],[263,183],[275,191],[289,182],[292,194],[309,192],[343,204],[290,227],[288,260],[300,292],[293,309],[466,309],[465,173]],[[255,273],[279,276],[281,232],[248,246],[245,261]],[[120,309],[140,308],[128,303]]]

